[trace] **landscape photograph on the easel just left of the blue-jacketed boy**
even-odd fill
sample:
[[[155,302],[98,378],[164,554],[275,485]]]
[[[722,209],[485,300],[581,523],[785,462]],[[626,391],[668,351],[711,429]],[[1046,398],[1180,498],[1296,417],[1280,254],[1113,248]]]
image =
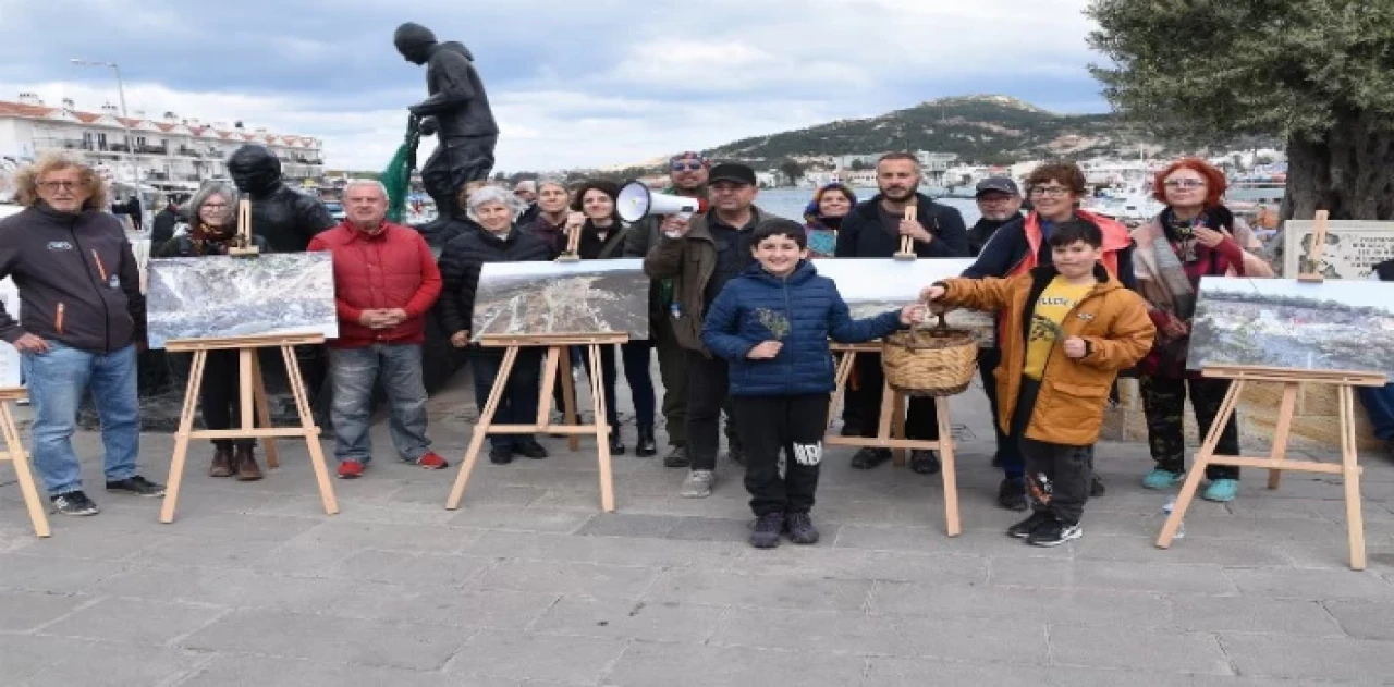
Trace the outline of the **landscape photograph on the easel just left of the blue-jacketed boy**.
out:
[[[648,339],[644,261],[487,262],[470,333],[475,341],[592,333]]]

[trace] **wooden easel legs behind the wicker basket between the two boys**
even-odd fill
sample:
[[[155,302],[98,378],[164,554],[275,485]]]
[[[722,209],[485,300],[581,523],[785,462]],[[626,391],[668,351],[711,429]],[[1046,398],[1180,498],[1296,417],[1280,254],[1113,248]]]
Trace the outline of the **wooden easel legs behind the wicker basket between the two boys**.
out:
[[[852,378],[852,371],[855,369],[859,353],[881,353],[880,343],[860,343],[860,344],[831,344],[834,353],[841,353],[842,360],[838,362],[836,371],[836,389],[832,392],[832,400],[828,403],[828,429],[832,428],[834,411],[838,408],[838,401],[842,400],[848,389],[848,380]],[[905,438],[905,408],[906,408],[907,394],[891,389],[889,382],[884,382],[881,386],[881,424],[877,428],[877,435],[871,438],[866,436],[838,436],[831,432],[824,436],[822,443],[828,446],[857,446],[857,447],[871,447],[871,449],[891,449],[894,456],[894,463],[898,467],[905,465],[906,449],[924,449],[924,450],[938,450],[940,451],[940,474],[944,479],[944,520],[945,530],[949,537],[958,537],[963,532],[962,524],[959,523],[959,509],[958,509],[958,472],[953,467],[953,436],[952,425],[949,424],[949,400],[947,396],[934,397],[934,410],[937,411],[937,419],[940,426],[940,439],[931,442],[927,439],[906,439]]]

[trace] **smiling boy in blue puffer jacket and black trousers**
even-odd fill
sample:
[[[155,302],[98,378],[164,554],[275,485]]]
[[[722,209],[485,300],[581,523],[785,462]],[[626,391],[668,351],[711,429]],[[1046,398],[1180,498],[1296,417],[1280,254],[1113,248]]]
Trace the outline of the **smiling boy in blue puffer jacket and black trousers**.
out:
[[[760,223],[750,238],[758,265],[730,280],[711,304],[703,344],[730,364],[737,431],[746,445],[746,489],[756,513],[750,545],[769,549],[789,532],[814,543],[809,511],[818,488],[828,394],[834,389],[828,337],[861,343],[923,319],[924,309],[852,319],[836,284],[807,261],[796,222]]]

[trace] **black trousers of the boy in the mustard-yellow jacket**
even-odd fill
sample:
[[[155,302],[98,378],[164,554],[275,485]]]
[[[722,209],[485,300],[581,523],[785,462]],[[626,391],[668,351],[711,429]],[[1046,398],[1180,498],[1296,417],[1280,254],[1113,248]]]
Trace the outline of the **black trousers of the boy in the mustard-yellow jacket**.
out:
[[[1012,415],[1012,433],[1026,464],[1026,497],[1032,510],[1050,513],[1062,523],[1079,524],[1094,478],[1094,447],[1037,442],[1026,438],[1041,383],[1022,378],[1022,389]]]

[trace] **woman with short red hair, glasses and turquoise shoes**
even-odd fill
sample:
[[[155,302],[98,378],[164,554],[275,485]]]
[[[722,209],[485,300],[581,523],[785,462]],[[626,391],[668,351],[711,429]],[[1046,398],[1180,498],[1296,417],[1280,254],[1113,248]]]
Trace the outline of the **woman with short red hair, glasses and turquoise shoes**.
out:
[[[1147,443],[1157,463],[1142,479],[1149,489],[1167,489],[1185,477],[1186,393],[1204,436],[1230,389],[1228,380],[1186,372],[1200,277],[1273,276],[1263,259],[1246,251],[1259,245],[1253,231],[1221,202],[1227,185],[1224,173],[1204,160],[1186,157],[1172,163],[1157,174],[1153,185],[1153,195],[1167,209],[1132,234],[1138,291],[1147,300],[1149,315],[1157,325],[1157,341],[1139,364]],[[1239,454],[1234,418],[1221,432],[1216,453]],[[1210,465],[1206,478],[1210,484],[1202,497],[1228,502],[1238,496],[1239,468]]]

